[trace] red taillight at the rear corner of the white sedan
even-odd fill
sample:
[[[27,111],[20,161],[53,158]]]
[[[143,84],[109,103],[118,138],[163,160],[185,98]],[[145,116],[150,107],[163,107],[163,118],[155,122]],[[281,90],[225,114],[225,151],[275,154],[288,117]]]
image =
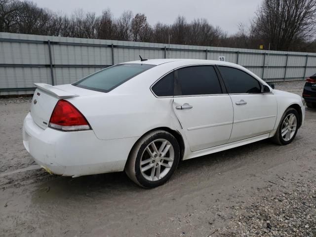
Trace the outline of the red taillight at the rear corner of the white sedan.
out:
[[[57,102],[49,120],[49,127],[63,131],[91,129],[87,119],[66,100]]]

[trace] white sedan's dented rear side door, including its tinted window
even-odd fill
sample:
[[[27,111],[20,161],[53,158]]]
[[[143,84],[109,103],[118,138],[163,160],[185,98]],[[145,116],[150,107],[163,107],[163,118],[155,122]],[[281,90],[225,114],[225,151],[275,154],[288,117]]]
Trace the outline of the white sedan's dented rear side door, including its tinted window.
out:
[[[175,70],[174,79],[173,109],[191,151],[227,143],[233,125],[233,105],[215,68],[210,65],[180,68]]]

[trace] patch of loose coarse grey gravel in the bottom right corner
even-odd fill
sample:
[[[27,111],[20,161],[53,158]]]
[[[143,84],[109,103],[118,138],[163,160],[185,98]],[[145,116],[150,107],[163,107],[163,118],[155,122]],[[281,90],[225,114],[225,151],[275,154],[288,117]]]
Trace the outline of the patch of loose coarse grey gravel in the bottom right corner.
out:
[[[315,172],[315,170],[313,170]],[[280,178],[281,179],[281,178]],[[267,188],[236,206],[221,236],[316,236],[316,179],[292,179],[290,185]]]

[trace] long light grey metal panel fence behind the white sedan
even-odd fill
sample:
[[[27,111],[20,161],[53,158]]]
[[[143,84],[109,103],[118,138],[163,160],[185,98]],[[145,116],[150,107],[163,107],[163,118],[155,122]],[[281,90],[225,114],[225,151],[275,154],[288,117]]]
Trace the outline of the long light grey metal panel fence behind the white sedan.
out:
[[[143,58],[193,58],[246,67],[268,82],[316,73],[316,53],[94,40],[0,33],[0,95],[33,93],[34,83],[72,83],[102,68]]]

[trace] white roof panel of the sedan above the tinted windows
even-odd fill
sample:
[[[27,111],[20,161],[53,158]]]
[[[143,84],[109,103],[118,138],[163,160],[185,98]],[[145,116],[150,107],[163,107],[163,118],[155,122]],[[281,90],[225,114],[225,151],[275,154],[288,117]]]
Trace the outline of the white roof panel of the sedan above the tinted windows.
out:
[[[172,63],[172,62],[182,62],[184,65],[192,65],[192,64],[216,64],[216,65],[227,65],[227,66],[233,66],[236,64],[229,63],[229,62],[222,62],[217,60],[203,60],[203,59],[185,59],[185,58],[167,58],[167,59],[148,59],[146,61],[130,61],[130,62],[124,62],[124,63],[137,63],[137,64],[151,64],[151,65],[161,65],[165,63]]]

